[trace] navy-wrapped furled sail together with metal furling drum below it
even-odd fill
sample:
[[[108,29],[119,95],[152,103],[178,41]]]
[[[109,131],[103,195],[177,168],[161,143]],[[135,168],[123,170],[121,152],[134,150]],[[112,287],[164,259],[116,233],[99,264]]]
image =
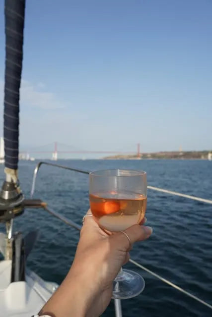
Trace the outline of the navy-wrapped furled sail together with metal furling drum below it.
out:
[[[23,212],[18,182],[19,91],[23,59],[25,0],[5,0],[4,158],[5,181],[0,191],[0,222],[6,223],[5,259],[12,255],[12,221]]]

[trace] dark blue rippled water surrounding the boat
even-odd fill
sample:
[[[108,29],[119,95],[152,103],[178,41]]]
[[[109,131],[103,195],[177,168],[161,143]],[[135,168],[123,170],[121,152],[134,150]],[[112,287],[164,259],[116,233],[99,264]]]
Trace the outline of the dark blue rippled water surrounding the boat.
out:
[[[131,168],[147,172],[148,184],[212,199],[212,162],[202,160],[65,160],[85,170]],[[29,197],[35,162],[21,161],[22,190]],[[0,166],[3,177],[3,166]],[[88,176],[42,166],[35,198],[81,224],[88,209]],[[131,251],[132,259],[212,304],[212,206],[148,190],[147,225],[153,234]],[[15,228],[40,236],[27,265],[45,280],[61,283],[71,266],[79,233],[42,210],[28,210],[16,218]],[[0,225],[0,229],[3,226]],[[141,272],[145,290],[122,301],[124,317],[209,317],[212,311],[172,289],[132,264]],[[104,317],[114,316],[113,303]]]

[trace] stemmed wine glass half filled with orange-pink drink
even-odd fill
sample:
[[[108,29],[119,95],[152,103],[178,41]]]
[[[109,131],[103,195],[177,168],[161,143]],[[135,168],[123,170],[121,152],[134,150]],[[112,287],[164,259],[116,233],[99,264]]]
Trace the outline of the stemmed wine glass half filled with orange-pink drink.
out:
[[[141,223],[146,210],[146,172],[124,169],[97,170],[89,174],[90,209],[107,234],[124,231]],[[145,282],[128,269],[118,273],[113,285],[114,299],[139,295]]]

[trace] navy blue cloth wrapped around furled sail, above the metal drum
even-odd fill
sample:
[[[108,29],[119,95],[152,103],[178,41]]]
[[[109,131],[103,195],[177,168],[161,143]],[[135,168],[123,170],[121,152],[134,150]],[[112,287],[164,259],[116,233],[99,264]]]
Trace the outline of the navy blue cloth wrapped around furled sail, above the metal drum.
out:
[[[4,151],[5,167],[18,168],[19,90],[23,59],[25,0],[5,0]]]

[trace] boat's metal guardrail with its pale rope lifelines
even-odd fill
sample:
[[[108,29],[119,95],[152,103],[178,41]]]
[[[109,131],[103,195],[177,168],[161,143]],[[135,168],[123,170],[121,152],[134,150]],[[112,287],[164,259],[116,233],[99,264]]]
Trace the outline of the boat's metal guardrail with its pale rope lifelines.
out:
[[[48,162],[44,162],[44,161],[41,161],[37,164],[35,170],[34,170],[34,175],[33,175],[33,182],[32,182],[32,188],[31,188],[31,196],[34,194],[34,191],[35,191],[35,183],[36,183],[36,178],[37,178],[37,174],[38,174],[38,171],[39,171],[39,168],[41,167],[42,164],[45,164],[45,165],[50,165],[50,166],[54,166],[54,167],[59,167],[59,168],[63,168],[63,169],[68,169],[68,170],[71,170],[71,171],[75,171],[75,172],[79,172],[79,173],[83,173],[83,174],[89,174],[88,171],[85,171],[85,170],[80,170],[80,169],[75,169],[75,168],[71,168],[71,167],[67,167],[67,166],[63,166],[63,165],[59,165],[59,164],[54,164],[54,163],[48,163]],[[165,190],[165,189],[162,189],[162,188],[157,188],[157,187],[152,187],[152,186],[147,186],[148,189],[150,190],[156,190],[156,191],[159,191],[159,192],[163,192],[163,193],[167,193],[167,194],[171,194],[171,195],[176,195],[176,196],[180,196],[180,197],[184,197],[184,198],[188,198],[188,199],[192,199],[192,200],[196,200],[196,201],[200,201],[200,202],[204,202],[204,203],[207,203],[207,204],[212,204],[212,200],[208,200],[208,199],[203,199],[203,198],[199,198],[199,197],[196,197],[196,196],[190,196],[190,195],[185,195],[185,194],[181,194],[181,193],[178,193],[178,192],[173,192],[173,191],[169,191],[169,190]],[[81,226],[78,225],[77,223],[73,222],[72,220],[70,219],[67,219],[65,216],[59,214],[58,212],[56,211],[53,211],[53,210],[50,210],[48,207],[47,207],[47,204],[43,204],[42,205],[42,208],[46,211],[48,211],[51,215],[55,216],[56,218],[62,220],[64,223],[68,224],[69,226],[77,229],[77,230],[80,230],[81,229]],[[165,279],[164,277],[160,276],[159,274],[157,273],[154,273],[153,271],[151,271],[150,269],[146,268],[145,266],[139,264],[138,262],[134,261],[133,259],[130,259],[130,262],[132,264],[135,264],[136,266],[140,267],[141,269],[143,269],[144,271],[146,271],[147,273],[151,274],[152,276],[158,278],[159,280],[161,280],[162,282],[168,284],[169,286],[175,288],[176,290],[180,291],[181,293],[193,298],[194,300],[198,301],[199,303],[203,304],[204,306],[207,306],[208,308],[210,308],[212,310],[212,305],[203,301],[202,299],[200,299],[199,297],[191,294],[190,292],[182,289],[181,287],[179,287],[178,285],[172,283],[171,281]],[[114,300],[114,304],[115,304],[115,313],[116,313],[116,317],[122,317],[122,310],[121,310],[121,301],[118,300],[118,299],[115,299]]]

